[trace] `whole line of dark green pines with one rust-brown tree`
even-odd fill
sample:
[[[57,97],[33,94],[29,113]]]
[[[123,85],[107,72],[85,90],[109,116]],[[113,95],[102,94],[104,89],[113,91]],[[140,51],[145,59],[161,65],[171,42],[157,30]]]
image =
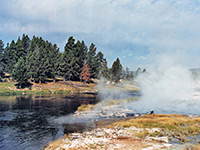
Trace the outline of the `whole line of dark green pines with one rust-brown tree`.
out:
[[[120,79],[133,79],[133,71],[123,69],[119,58],[108,68],[102,52],[91,43],[89,48],[84,41],[68,38],[61,52],[56,44],[45,41],[42,37],[23,34],[15,42],[4,46],[0,40],[0,74],[11,74],[20,87],[29,80],[44,83],[47,79],[58,78],[70,81],[90,82],[90,78],[104,77],[119,82]]]

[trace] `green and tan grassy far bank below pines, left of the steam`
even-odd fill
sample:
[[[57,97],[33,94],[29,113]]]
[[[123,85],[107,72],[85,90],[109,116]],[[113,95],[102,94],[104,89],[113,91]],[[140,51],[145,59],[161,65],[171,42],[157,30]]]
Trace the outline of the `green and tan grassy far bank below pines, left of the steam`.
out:
[[[72,94],[72,93],[95,93],[95,84],[84,84],[82,82],[50,82],[36,84],[31,88],[17,89],[15,82],[0,82],[0,96],[27,95],[27,94]]]

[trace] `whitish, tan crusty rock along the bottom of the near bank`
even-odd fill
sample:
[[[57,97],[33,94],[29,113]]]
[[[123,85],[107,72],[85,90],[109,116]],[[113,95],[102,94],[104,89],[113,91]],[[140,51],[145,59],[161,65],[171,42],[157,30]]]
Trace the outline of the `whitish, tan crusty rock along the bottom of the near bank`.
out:
[[[62,140],[62,144],[60,144],[57,149],[121,149],[124,145],[127,146],[127,142],[130,143],[132,140],[136,139],[128,130],[142,132],[144,129],[136,127],[115,127],[114,129],[97,128],[84,133],[71,133],[67,138]],[[156,132],[158,129],[149,129],[149,131]],[[168,137],[147,137],[145,142],[143,141],[142,143],[146,144],[146,148],[143,150],[163,149],[172,146],[168,144]],[[135,142],[131,143],[129,148],[131,149],[134,144]],[[53,150],[51,149],[51,145],[49,147],[50,148],[47,147],[46,150]]]

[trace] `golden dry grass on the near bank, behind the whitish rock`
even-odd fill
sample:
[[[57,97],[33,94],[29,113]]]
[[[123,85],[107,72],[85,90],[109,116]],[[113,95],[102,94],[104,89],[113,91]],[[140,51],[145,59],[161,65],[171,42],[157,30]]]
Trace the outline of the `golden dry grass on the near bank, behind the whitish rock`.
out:
[[[142,117],[115,122],[107,127],[113,128],[131,127],[137,128],[160,128],[160,132],[152,133],[151,136],[171,136],[184,140],[187,136],[200,134],[200,118],[189,118],[184,115],[144,115]],[[145,131],[145,130],[144,130]],[[140,133],[136,136],[146,136],[147,133]]]

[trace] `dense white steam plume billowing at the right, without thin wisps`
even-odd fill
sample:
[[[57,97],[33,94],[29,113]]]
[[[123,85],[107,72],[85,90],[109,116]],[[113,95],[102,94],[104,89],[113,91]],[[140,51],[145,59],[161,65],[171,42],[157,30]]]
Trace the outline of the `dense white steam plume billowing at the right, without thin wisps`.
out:
[[[166,58],[166,57],[165,57]],[[173,60],[163,59],[137,78],[142,96],[126,107],[139,113],[200,114],[200,93],[192,72]],[[156,69],[155,69],[156,68]]]

